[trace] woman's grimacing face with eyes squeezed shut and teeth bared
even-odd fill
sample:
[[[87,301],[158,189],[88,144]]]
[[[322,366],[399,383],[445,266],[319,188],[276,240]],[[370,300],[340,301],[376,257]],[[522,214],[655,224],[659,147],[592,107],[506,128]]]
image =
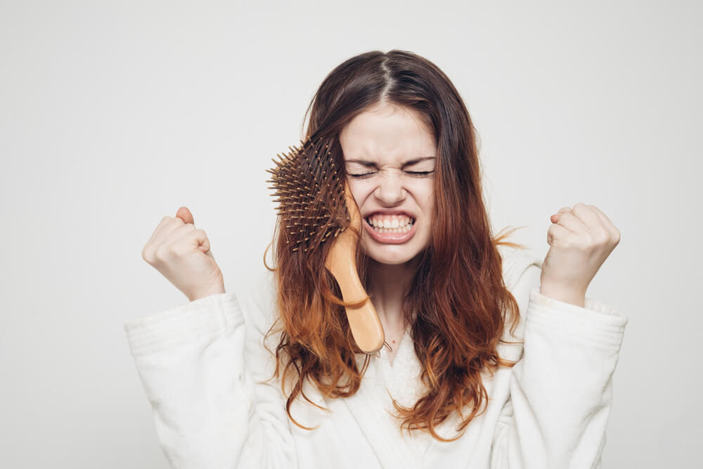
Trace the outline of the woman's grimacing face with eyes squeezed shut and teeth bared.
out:
[[[430,242],[437,145],[411,108],[378,103],[340,132],[347,181],[362,217],[361,247],[403,264]]]

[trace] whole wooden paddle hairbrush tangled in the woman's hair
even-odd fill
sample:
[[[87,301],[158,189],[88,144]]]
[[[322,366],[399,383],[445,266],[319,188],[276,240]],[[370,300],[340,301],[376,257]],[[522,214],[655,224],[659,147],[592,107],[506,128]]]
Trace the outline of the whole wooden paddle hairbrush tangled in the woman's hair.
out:
[[[356,270],[356,233],[361,233],[361,214],[349,191],[346,177],[335,167],[330,143],[323,137],[300,141],[281,153],[271,173],[272,195],[280,219],[280,236],[292,251],[310,253],[331,238],[325,267],[340,286],[344,302],[360,303],[344,307],[356,345],[373,354],[385,344],[385,335],[376,310],[364,290]],[[349,229],[349,226],[354,227]]]

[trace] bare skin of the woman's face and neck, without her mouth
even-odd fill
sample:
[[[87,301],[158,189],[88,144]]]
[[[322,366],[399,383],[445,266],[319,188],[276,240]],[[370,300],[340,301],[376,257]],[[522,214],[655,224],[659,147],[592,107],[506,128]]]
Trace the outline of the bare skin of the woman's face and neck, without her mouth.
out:
[[[393,103],[378,103],[354,117],[340,132],[340,145],[349,188],[363,218],[377,210],[402,210],[415,218],[415,235],[406,243],[382,243],[366,230],[361,235],[361,248],[370,258],[368,294],[393,346],[404,333],[403,295],[418,255],[430,242],[434,173],[418,173],[434,170],[437,146],[417,111]],[[422,157],[431,158],[408,165]]]

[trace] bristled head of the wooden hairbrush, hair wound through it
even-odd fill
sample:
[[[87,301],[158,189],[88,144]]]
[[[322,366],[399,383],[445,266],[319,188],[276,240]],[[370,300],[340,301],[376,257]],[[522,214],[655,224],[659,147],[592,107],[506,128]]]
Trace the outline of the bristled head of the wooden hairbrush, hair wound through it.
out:
[[[322,138],[300,141],[288,147],[289,153],[271,158],[276,166],[266,169],[272,174],[266,182],[280,216],[280,235],[292,251],[309,252],[337,236],[349,222],[344,202],[344,179],[335,167],[337,154]]]

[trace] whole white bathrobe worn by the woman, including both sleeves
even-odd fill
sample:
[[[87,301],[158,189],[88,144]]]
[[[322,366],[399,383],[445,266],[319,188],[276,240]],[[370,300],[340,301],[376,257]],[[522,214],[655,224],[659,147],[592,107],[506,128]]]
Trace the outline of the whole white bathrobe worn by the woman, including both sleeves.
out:
[[[273,274],[254,293],[210,295],[124,324],[174,468],[599,468],[612,373],[628,318],[586,297],[585,307],[539,293],[541,261],[500,246],[506,285],[520,304],[515,335],[498,353],[520,361],[484,373],[486,411],[454,442],[401,432],[391,397],[411,406],[422,391],[408,331],[392,362],[372,356],[347,399],[304,390],[290,422],[262,339],[276,315]],[[515,341],[506,330],[505,340]],[[277,336],[267,342],[275,348]],[[361,358],[359,355],[359,363]],[[456,416],[439,426],[456,436]]]

